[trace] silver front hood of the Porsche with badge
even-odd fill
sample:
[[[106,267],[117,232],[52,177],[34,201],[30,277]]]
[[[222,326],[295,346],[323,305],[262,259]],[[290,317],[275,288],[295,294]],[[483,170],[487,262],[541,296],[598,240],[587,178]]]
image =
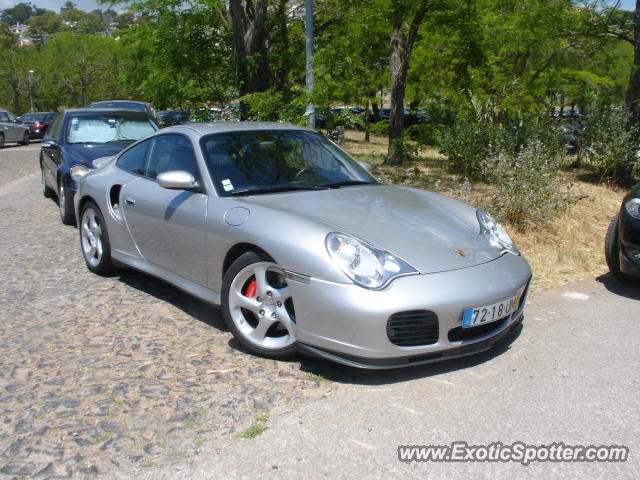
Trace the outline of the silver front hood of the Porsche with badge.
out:
[[[243,198],[242,203],[287,212],[350,233],[393,253],[421,273],[466,268],[499,257],[501,252],[478,234],[477,224],[470,224],[468,219],[475,221],[475,213],[467,212],[465,222],[445,206],[445,198],[379,185],[256,195]]]

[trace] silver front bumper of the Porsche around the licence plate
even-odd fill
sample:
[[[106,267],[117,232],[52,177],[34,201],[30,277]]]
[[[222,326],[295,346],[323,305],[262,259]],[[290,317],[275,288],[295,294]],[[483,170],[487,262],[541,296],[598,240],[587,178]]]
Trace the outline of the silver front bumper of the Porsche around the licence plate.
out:
[[[289,287],[303,352],[357,367],[393,368],[491,348],[522,320],[530,278],[531,268],[523,257],[505,254],[470,268],[398,278],[380,291],[318,279],[289,282]],[[475,331],[465,329],[463,340],[451,334],[461,331],[466,308],[513,295],[518,295],[518,307],[508,317]],[[437,340],[418,346],[392,343],[387,333],[390,317],[423,310],[437,316]]]

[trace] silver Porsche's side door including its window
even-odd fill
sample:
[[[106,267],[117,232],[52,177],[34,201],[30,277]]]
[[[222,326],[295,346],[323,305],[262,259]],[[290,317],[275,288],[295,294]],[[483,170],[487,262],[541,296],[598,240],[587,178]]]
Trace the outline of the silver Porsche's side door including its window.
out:
[[[205,286],[207,195],[204,190],[169,190],[156,182],[159,173],[186,170],[202,184],[193,146],[177,134],[151,142],[144,175],[121,192],[129,232],[148,263]]]

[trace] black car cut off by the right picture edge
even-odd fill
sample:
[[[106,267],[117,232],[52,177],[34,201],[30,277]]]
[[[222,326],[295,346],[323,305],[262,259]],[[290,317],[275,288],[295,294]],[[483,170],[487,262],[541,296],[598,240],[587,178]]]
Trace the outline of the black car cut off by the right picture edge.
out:
[[[609,270],[623,282],[640,281],[640,183],[622,200],[604,242]]]

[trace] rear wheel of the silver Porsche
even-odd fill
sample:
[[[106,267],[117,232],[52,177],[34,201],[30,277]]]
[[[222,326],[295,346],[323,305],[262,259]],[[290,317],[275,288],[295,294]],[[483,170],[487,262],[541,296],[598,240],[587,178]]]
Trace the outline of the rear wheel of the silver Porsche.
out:
[[[108,275],[115,269],[111,260],[109,232],[102,212],[93,202],[82,207],[80,215],[80,250],[87,268],[98,275]]]

